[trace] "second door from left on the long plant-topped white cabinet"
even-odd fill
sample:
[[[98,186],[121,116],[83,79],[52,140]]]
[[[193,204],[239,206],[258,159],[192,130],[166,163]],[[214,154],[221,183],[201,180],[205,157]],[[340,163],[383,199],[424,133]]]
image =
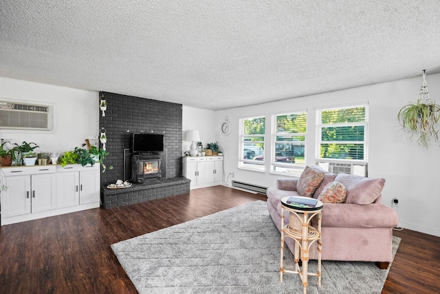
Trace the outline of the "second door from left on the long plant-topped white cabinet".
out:
[[[56,209],[56,174],[32,175],[32,212]]]

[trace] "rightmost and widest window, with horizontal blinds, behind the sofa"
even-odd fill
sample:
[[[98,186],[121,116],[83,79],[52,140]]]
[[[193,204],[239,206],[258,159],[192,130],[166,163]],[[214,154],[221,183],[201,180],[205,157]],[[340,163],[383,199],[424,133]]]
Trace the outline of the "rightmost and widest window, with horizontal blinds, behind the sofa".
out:
[[[318,110],[317,161],[360,162],[366,165],[367,123],[367,105]]]

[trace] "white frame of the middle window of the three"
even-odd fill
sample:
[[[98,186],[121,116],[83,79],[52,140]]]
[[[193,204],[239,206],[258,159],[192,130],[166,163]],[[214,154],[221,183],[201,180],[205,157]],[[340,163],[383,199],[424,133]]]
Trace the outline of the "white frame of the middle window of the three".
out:
[[[278,116],[285,116],[285,115],[292,115],[292,114],[305,114],[306,115],[306,132],[305,133],[277,133],[277,124],[276,119]],[[272,128],[271,128],[271,156],[270,156],[270,173],[271,174],[281,174],[284,176],[300,176],[300,174],[303,172],[306,166],[307,162],[307,118],[308,113],[307,109],[302,111],[296,111],[296,112],[287,112],[282,114],[273,114],[272,115]],[[283,136],[283,135],[289,135],[289,136],[304,136],[305,140],[304,143],[304,163],[287,163],[287,162],[278,162],[276,161],[276,143],[292,143],[296,141],[277,141],[277,136]],[[277,170],[278,169],[278,170]]]

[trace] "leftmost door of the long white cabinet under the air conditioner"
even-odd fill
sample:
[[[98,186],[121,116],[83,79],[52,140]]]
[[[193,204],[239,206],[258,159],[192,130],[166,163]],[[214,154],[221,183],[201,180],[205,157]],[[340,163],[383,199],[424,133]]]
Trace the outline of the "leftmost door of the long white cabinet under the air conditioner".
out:
[[[30,213],[30,176],[3,177],[1,184],[7,187],[1,191],[2,218]]]

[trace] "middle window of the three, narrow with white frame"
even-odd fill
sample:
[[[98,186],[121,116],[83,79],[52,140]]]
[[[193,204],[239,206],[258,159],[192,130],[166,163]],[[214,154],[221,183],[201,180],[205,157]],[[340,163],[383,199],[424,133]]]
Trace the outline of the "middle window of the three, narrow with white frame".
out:
[[[271,169],[298,176],[305,167],[307,112],[272,116]]]

